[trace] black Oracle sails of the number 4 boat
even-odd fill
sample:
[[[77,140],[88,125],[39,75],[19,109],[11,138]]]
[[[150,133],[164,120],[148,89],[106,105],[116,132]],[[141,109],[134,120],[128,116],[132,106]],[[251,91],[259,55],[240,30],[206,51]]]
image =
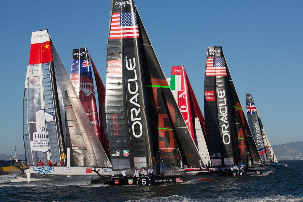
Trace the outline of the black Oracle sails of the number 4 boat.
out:
[[[259,164],[255,142],[244,116],[221,46],[208,47],[204,80],[205,130],[212,166]]]

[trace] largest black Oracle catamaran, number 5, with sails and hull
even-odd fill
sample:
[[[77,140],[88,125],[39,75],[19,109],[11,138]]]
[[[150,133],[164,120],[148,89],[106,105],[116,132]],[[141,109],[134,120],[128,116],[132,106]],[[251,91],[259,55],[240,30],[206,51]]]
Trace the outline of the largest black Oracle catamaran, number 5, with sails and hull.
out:
[[[105,112],[113,170],[133,173],[153,168],[154,161],[204,167],[132,0],[112,0],[106,61]],[[204,178],[160,176],[159,169],[156,174],[112,177],[108,183],[150,185]]]

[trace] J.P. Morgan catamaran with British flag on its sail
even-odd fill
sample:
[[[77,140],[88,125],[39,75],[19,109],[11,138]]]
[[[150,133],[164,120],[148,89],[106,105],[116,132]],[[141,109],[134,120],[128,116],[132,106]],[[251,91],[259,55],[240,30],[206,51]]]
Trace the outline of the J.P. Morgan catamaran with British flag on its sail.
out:
[[[265,129],[261,122],[252,94],[246,93],[246,109],[248,124],[251,128],[261,159],[266,166],[287,167],[285,163],[278,163],[275,153],[269,143]]]

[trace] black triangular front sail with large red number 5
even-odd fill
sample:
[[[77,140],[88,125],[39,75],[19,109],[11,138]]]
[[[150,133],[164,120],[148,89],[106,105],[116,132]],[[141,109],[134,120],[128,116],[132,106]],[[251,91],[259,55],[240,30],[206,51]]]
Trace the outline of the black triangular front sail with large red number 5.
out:
[[[152,134],[158,135],[153,137],[154,147],[158,146],[155,150],[160,151],[160,162],[176,167],[183,165],[204,167],[137,9],[136,12]],[[165,107],[166,112],[163,108],[159,109],[161,106]],[[177,155],[178,152],[180,156]]]

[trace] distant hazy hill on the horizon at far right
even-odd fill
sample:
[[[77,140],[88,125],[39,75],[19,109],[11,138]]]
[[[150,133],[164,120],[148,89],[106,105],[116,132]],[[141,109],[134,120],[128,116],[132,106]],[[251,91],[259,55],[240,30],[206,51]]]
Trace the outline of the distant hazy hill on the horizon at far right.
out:
[[[303,158],[303,141],[271,145],[276,157],[281,160],[301,160]]]

